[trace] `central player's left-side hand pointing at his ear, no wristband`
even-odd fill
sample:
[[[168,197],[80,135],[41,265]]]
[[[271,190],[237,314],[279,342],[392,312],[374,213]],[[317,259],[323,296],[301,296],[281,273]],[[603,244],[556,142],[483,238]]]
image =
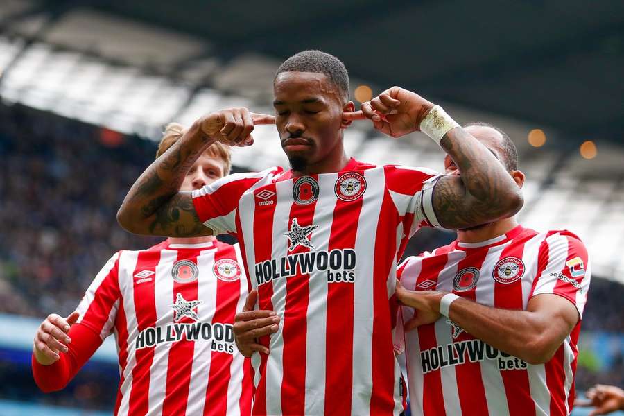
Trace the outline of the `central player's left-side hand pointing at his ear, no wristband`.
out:
[[[245,107],[212,112],[200,119],[200,128],[210,139],[229,146],[251,146],[255,125],[275,124],[275,116],[256,114]]]

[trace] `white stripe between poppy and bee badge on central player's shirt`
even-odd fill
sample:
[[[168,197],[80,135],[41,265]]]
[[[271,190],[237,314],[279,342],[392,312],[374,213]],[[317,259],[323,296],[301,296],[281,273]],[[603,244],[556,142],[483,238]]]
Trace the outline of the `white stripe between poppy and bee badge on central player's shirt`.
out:
[[[320,189],[333,189],[338,175],[320,175]],[[322,210],[331,209],[336,206],[338,198],[332,195],[327,199],[327,203],[317,204],[315,207],[315,217],[312,223],[318,224],[318,216],[322,216]],[[333,222],[333,221],[332,221]],[[311,235],[311,241],[316,250],[329,252],[329,236],[331,234],[331,223],[324,228],[321,227]],[[304,409],[306,414],[312,414],[315,409],[324,408],[325,401],[325,367],[321,363],[327,363],[327,291],[328,284],[324,279],[309,279],[309,298],[307,309],[307,333],[306,333],[306,395]]]

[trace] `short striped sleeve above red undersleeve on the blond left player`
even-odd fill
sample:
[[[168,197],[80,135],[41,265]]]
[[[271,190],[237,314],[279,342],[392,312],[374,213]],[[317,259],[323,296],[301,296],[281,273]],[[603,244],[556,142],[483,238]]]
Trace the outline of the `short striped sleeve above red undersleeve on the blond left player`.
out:
[[[119,290],[119,256],[116,252],[102,270],[98,272],[92,284],[87,288],[76,311],[80,313],[78,323],[92,329],[102,340],[112,332],[121,291]]]

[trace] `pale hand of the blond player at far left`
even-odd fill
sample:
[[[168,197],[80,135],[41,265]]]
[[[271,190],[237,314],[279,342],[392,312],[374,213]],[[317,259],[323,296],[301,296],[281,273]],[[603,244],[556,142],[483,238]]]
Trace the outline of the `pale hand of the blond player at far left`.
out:
[[[60,358],[59,352],[67,352],[71,339],[67,335],[71,325],[78,320],[80,313],[73,312],[67,318],[52,313],[41,323],[35,335],[33,352],[42,365],[51,365]]]

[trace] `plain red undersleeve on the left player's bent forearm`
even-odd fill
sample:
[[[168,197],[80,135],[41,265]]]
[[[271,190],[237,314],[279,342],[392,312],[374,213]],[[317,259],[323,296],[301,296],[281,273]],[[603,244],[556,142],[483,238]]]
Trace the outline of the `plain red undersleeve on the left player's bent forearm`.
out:
[[[64,388],[102,345],[99,334],[83,324],[73,324],[67,335],[71,339],[67,345],[68,351],[60,352],[60,358],[55,363],[42,365],[33,354],[33,378],[42,392],[55,392]]]

